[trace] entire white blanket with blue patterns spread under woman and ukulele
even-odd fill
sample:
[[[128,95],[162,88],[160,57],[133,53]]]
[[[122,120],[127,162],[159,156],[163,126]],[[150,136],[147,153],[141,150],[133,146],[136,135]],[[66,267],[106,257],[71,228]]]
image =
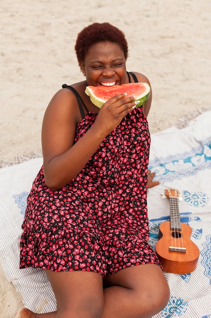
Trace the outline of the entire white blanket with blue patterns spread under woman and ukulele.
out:
[[[184,129],[175,126],[151,136],[150,165],[160,185],[148,189],[150,244],[158,239],[161,222],[170,219],[166,188],[178,189],[181,221],[192,229],[200,255],[195,271],[165,273],[171,297],[153,318],[211,318],[211,112],[201,114]],[[42,158],[0,169],[0,260],[9,281],[34,311],[55,310],[55,298],[45,272],[19,270],[19,238],[26,198]],[[150,303],[150,300],[149,300]]]

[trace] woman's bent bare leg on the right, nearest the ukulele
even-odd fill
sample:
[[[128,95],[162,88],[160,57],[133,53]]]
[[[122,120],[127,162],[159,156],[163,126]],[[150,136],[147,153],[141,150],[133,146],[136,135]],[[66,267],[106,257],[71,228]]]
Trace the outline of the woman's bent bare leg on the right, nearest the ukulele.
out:
[[[104,279],[102,318],[147,318],[161,311],[170,290],[161,268],[154,264],[132,266]]]

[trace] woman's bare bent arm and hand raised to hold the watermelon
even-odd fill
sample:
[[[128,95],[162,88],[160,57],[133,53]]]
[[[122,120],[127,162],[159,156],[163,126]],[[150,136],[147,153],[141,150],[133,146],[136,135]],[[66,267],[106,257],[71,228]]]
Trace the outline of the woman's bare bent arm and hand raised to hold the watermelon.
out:
[[[78,121],[77,102],[67,89],[55,94],[46,110],[42,129],[44,174],[49,188],[61,188],[81,171],[104,138],[133,110],[132,101],[133,97],[124,94],[110,99],[93,126],[73,144]]]

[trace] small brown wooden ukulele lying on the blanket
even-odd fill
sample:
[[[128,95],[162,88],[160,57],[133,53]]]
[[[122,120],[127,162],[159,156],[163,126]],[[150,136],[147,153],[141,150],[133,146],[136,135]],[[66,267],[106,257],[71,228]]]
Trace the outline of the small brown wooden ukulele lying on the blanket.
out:
[[[190,239],[189,225],[180,221],[178,190],[166,189],[165,197],[170,199],[170,221],[160,225],[155,251],[165,272],[187,274],[196,269],[199,249]]]

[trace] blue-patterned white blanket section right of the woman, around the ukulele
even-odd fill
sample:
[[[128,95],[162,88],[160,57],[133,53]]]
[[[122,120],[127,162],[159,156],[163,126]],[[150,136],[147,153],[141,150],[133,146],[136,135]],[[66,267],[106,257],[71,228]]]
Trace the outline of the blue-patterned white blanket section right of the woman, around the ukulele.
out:
[[[182,130],[172,127],[152,135],[150,169],[160,185],[148,189],[150,243],[158,239],[159,225],[170,220],[166,188],[179,190],[181,222],[192,229],[191,240],[200,250],[198,265],[189,274],[165,273],[171,297],[153,318],[211,318],[211,112]]]

